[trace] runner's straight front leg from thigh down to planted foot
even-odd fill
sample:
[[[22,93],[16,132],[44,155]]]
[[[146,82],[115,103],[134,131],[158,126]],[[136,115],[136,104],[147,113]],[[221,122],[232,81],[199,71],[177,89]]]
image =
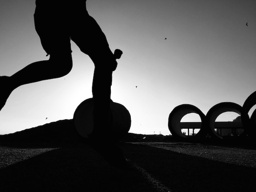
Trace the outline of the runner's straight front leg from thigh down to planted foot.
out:
[[[89,136],[89,145],[111,165],[126,168],[127,162],[123,152],[110,137],[109,129],[112,70],[117,63],[97,22],[90,16],[81,16],[77,19],[80,22],[73,28],[71,40],[83,53],[90,56],[95,65],[92,85],[94,130]]]

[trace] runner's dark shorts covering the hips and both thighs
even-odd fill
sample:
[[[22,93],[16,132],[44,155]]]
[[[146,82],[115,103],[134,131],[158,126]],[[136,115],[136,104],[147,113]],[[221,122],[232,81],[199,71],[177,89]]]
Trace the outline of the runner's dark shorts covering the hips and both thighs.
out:
[[[90,56],[95,67],[113,71],[117,62],[106,36],[85,7],[37,2],[35,28],[47,54],[71,53],[72,40],[83,53]]]

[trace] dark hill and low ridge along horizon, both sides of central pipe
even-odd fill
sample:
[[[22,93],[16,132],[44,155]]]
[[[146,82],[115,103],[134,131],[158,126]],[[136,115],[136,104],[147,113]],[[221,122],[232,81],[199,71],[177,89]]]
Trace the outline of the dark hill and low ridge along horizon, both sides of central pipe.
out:
[[[201,141],[189,141],[163,135],[144,135],[128,133],[121,139],[123,142],[189,142],[232,147],[255,148],[256,142],[249,139],[225,139],[216,141],[205,138]],[[38,127],[25,129],[12,134],[0,135],[0,145],[15,147],[62,147],[85,143],[86,140],[77,134],[72,119],[60,120]]]

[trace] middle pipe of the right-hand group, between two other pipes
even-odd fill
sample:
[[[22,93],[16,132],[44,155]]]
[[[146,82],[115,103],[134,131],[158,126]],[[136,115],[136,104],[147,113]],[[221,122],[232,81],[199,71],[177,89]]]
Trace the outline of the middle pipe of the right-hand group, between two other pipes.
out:
[[[215,124],[216,118],[220,114],[225,113],[225,112],[236,112],[239,115],[241,115],[242,111],[243,111],[243,108],[240,105],[236,104],[236,103],[223,102],[223,103],[218,103],[217,105],[214,105],[213,107],[211,107],[211,109],[206,114],[207,124],[205,126],[208,129],[208,133],[213,138],[222,139],[222,137],[219,136],[215,132],[215,125],[214,124]],[[243,133],[240,136],[243,136],[243,135],[245,135],[245,129],[244,129]]]

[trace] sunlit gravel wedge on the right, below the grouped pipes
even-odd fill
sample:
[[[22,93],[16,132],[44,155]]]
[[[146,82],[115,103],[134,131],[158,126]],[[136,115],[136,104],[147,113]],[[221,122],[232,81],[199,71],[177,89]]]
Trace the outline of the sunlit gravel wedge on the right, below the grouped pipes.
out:
[[[256,168],[256,150],[202,145],[192,143],[136,143],[173,152],[200,156],[214,161]]]

